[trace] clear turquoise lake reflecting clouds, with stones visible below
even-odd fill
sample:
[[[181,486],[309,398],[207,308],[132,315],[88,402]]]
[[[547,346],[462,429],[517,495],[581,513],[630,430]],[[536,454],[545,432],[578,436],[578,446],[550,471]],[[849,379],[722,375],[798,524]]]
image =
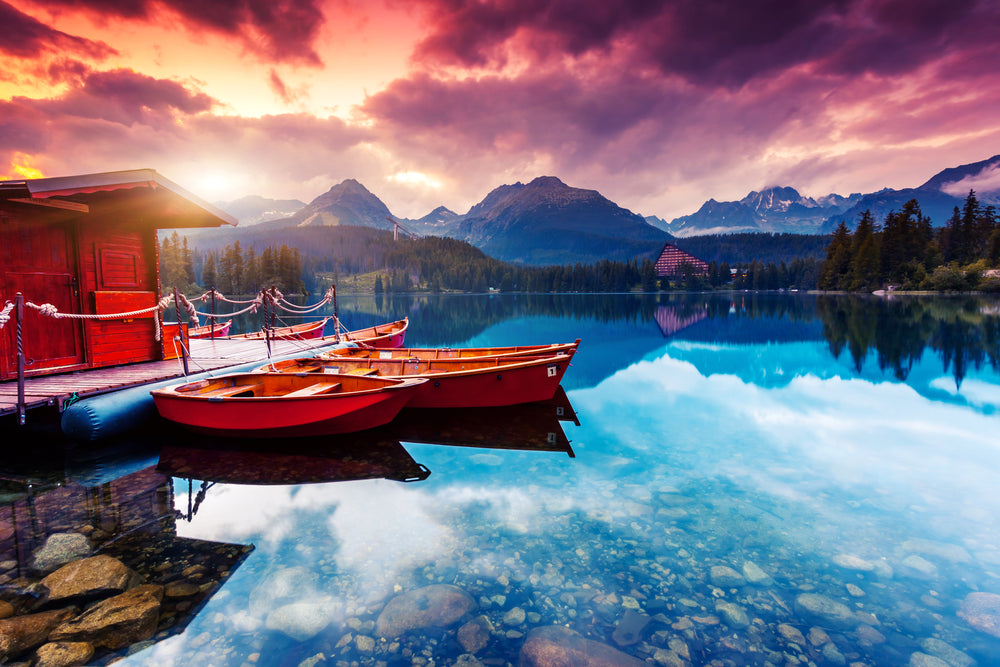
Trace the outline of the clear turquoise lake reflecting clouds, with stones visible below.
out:
[[[1000,299],[338,308],[410,346],[582,343],[547,404],[12,458],[22,560],[78,531],[168,584],[100,664],[1000,664]]]

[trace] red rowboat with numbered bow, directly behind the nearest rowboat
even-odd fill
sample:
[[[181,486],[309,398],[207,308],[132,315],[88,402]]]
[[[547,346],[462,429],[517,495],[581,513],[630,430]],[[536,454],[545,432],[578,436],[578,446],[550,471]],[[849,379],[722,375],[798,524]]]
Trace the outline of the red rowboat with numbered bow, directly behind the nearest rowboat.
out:
[[[482,408],[551,399],[571,354],[493,359],[290,359],[261,366],[259,373],[300,376],[345,374],[361,377],[425,378],[411,408]]]

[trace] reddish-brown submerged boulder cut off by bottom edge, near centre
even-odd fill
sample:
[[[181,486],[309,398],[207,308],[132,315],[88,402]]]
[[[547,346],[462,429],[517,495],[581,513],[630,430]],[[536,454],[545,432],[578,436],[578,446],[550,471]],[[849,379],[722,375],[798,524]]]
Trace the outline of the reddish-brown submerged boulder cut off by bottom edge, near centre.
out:
[[[520,667],[640,667],[646,663],[561,625],[535,628],[521,647]]]

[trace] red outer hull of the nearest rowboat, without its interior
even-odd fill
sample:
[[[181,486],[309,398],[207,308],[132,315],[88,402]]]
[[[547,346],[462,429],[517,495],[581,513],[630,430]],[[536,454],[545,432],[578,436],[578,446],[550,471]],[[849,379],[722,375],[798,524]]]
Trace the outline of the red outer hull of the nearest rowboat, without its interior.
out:
[[[193,431],[228,437],[274,438],[352,433],[388,424],[422,384],[382,383],[370,390],[309,397],[247,396],[212,400],[184,395],[177,391],[177,386],[151,393],[164,419]]]

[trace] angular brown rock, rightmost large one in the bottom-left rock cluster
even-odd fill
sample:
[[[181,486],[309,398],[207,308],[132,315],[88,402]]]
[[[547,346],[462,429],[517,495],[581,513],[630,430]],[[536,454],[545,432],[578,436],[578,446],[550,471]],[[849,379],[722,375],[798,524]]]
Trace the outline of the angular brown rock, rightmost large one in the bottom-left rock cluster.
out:
[[[149,639],[160,618],[163,586],[137,586],[102,600],[49,635],[55,642],[90,642],[111,650]]]

